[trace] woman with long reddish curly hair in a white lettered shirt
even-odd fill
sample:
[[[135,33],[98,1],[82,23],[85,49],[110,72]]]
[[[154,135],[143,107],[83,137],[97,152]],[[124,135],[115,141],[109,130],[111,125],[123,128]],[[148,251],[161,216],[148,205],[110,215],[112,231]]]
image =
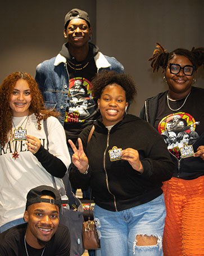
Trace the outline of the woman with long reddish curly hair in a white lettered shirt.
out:
[[[57,112],[44,107],[37,82],[14,72],[0,86],[0,233],[24,222],[26,194],[36,186],[64,187],[70,165]]]

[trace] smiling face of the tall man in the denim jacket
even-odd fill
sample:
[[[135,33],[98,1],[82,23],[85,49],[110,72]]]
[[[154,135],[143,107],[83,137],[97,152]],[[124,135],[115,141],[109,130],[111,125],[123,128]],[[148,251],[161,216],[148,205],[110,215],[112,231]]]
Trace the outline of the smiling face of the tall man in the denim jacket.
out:
[[[83,47],[88,45],[89,37],[92,35],[87,21],[83,19],[70,20],[67,29],[64,30],[64,37],[68,39],[69,46]]]

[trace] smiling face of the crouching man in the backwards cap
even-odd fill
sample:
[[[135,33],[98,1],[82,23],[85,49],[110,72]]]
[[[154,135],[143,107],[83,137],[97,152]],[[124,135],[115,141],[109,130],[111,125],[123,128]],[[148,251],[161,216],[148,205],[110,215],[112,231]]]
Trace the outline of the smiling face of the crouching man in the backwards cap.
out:
[[[42,196],[42,198],[53,198]],[[59,208],[55,204],[40,202],[28,206],[24,219],[28,222],[26,241],[33,248],[43,248],[51,240],[59,224]]]

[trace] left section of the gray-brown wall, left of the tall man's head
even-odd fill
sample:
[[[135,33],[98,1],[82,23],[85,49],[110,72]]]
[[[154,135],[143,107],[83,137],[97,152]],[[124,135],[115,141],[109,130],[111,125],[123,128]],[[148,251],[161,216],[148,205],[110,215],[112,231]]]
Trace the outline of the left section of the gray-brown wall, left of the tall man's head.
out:
[[[1,0],[0,82],[21,70],[35,75],[35,67],[57,55],[65,42],[64,17],[72,8],[89,12],[96,42],[94,0]]]

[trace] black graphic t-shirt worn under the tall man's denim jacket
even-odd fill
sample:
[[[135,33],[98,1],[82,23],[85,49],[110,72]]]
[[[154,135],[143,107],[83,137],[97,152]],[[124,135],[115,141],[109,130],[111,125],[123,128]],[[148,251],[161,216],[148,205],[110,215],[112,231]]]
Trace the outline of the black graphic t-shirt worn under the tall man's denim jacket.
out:
[[[91,83],[97,73],[97,68],[93,58],[90,61],[83,61],[81,65],[76,66],[76,69],[72,69],[73,66],[69,64],[67,63],[70,77],[69,96],[64,128],[67,139],[75,143],[84,127],[90,125],[99,116],[97,100],[92,94]]]

